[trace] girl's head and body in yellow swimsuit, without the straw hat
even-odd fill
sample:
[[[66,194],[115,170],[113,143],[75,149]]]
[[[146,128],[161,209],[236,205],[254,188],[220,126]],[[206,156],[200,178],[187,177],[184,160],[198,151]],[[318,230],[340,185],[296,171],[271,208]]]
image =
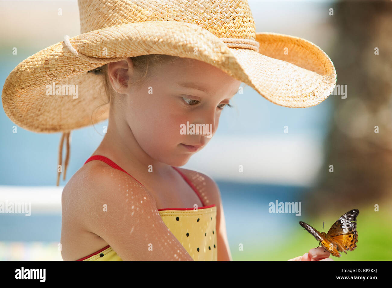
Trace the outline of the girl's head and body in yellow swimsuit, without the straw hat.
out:
[[[117,94],[107,134],[89,158],[101,161],[88,160],[63,190],[64,260],[231,259],[218,187],[174,167],[211,139],[181,135],[180,125],[212,123],[213,134],[241,82],[204,62],[156,55],[163,63],[149,67],[148,81],[128,84],[144,73],[134,62],[151,57],[101,69]]]

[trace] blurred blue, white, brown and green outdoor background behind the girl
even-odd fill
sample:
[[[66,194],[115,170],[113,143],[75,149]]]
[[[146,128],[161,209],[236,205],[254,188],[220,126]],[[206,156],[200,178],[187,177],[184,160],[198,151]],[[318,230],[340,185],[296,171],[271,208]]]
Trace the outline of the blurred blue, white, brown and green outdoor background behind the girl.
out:
[[[218,184],[232,259],[303,255],[318,241],[299,221],[319,231],[325,221],[327,232],[357,208],[356,250],[330,257],[392,260],[387,248],[392,237],[392,2],[249,0],[249,5],[257,32],[294,35],[321,47],[334,62],[336,84],[345,87],[345,96],[332,93],[319,105],[293,109],[245,86],[232,98],[234,107],[223,110],[209,145],[183,166]],[[0,23],[2,86],[25,58],[63,41],[65,34],[80,34],[76,0],[0,1]],[[0,260],[62,261],[62,189],[98,147],[104,125],[107,121],[71,132],[67,178],[56,187],[61,134],[21,127],[13,133],[14,123],[1,107],[0,202],[30,202],[32,213],[0,213]],[[269,213],[269,203],[276,200],[301,202],[301,215]]]

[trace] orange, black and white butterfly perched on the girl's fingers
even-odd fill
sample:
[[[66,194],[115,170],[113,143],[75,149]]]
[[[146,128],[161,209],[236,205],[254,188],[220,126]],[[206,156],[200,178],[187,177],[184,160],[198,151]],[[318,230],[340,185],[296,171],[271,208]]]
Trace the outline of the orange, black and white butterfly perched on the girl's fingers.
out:
[[[317,241],[320,241],[321,245],[332,255],[340,257],[339,252],[347,254],[346,250],[352,251],[357,247],[358,232],[356,228],[358,214],[358,209],[350,210],[343,214],[328,230],[328,233],[320,233],[302,221],[299,221],[299,225],[312,234]]]

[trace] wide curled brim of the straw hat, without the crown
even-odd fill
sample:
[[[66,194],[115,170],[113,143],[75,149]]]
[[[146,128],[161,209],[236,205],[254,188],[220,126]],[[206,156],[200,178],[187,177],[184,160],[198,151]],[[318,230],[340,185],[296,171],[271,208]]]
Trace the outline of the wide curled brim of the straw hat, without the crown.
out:
[[[196,24],[147,21],[83,33],[69,41],[73,51],[64,41],[58,42],[18,64],[5,80],[3,107],[16,125],[34,132],[64,132],[107,119],[109,104],[102,78],[87,71],[144,54],[209,63],[285,107],[317,105],[336,84],[334,65],[323,50],[285,34],[256,33],[257,52],[228,47]],[[47,85],[53,83],[78,85],[78,98],[47,95]]]

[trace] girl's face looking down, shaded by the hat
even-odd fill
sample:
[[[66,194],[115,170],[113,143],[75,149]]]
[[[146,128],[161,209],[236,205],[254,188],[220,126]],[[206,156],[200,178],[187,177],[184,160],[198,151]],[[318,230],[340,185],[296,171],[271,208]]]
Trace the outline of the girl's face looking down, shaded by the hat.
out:
[[[132,65],[129,58],[123,61],[127,61],[128,67]],[[134,79],[132,67],[120,70],[127,80]],[[222,110],[228,109],[225,104],[238,92],[241,82],[208,63],[190,58],[162,63],[152,75],[140,87],[130,84],[119,91],[125,94],[121,114],[133,134],[127,138],[136,140],[156,161],[185,165],[192,154],[207,145],[218,128]],[[191,124],[195,124],[193,134]],[[205,128],[196,124],[204,124],[201,127]]]

